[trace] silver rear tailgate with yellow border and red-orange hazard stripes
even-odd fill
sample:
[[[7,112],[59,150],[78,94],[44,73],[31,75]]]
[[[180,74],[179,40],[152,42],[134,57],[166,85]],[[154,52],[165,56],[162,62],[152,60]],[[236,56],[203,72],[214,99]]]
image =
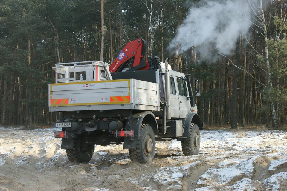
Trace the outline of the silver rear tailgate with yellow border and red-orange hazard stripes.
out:
[[[50,111],[131,108],[130,84],[131,79],[49,84]],[[110,104],[118,106],[105,107]]]

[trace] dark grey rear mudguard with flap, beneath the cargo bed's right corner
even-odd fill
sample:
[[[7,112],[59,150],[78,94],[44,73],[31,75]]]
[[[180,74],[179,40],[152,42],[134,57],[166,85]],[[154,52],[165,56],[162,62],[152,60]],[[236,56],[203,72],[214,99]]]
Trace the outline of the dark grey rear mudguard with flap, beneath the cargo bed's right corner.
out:
[[[134,137],[124,138],[123,148],[124,149],[134,149],[137,145],[137,139],[141,136],[141,124],[146,123],[149,124],[154,133],[155,137],[158,136],[158,124],[155,118],[155,115],[150,111],[144,111],[141,113],[137,113],[135,115],[132,115],[132,121],[130,124],[130,128],[134,130]]]

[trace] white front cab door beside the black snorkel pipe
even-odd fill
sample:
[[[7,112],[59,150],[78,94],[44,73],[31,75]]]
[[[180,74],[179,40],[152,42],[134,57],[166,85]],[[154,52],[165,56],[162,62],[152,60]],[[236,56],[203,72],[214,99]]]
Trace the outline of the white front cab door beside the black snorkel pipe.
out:
[[[179,118],[185,118],[190,112],[190,100],[187,99],[187,84],[186,81],[177,78],[178,98],[179,98]]]

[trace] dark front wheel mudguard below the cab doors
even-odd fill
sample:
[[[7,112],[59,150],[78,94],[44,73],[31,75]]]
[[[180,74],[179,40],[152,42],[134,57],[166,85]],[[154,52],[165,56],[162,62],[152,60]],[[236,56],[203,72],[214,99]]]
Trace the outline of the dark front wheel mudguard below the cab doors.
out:
[[[203,130],[203,123],[200,120],[199,115],[196,113],[187,113],[182,124],[184,125],[184,132],[182,138],[177,138],[178,141],[188,141],[189,140],[189,132],[190,132],[190,124],[195,123],[198,125],[199,130]]]

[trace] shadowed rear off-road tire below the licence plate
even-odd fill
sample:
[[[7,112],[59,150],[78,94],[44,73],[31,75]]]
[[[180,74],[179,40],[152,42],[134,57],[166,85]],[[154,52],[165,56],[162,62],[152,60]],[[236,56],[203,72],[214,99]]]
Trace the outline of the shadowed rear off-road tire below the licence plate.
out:
[[[71,162],[89,162],[94,154],[95,144],[84,143],[84,135],[79,135],[74,138],[74,144],[72,149],[66,149],[66,154]],[[86,150],[82,150],[82,144],[87,144]]]

